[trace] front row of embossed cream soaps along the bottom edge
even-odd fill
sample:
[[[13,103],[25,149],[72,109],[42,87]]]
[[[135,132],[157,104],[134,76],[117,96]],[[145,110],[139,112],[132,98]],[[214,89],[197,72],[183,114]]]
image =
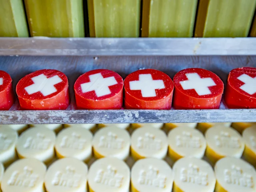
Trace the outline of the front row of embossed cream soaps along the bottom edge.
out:
[[[0,164],[3,192],[223,192],[256,190],[256,171],[241,159],[226,157],[212,166],[201,159],[181,158],[171,168],[156,158],[138,160],[132,169],[118,158],[101,158],[88,166],[62,158],[48,170],[34,159]],[[130,185],[131,183],[131,185]],[[87,187],[88,186],[88,187]]]

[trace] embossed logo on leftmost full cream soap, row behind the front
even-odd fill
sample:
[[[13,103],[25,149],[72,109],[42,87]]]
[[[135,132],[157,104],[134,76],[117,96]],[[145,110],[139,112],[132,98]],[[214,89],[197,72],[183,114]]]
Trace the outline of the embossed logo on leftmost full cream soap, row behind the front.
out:
[[[25,149],[47,150],[50,148],[51,140],[44,134],[38,133],[36,137],[28,137],[23,147]]]

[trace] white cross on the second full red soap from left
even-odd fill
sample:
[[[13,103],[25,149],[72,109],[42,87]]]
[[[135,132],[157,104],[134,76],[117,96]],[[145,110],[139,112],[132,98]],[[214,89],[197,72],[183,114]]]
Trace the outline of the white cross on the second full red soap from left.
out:
[[[89,75],[90,82],[81,84],[82,92],[95,91],[97,97],[108,95],[111,93],[109,86],[117,84],[116,78],[104,78],[101,73]]]

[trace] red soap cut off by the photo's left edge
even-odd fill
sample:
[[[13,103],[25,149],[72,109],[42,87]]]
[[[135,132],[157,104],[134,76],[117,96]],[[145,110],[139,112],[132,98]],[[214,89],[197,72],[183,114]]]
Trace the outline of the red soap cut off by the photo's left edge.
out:
[[[11,76],[0,71],[0,110],[9,110],[14,103]]]

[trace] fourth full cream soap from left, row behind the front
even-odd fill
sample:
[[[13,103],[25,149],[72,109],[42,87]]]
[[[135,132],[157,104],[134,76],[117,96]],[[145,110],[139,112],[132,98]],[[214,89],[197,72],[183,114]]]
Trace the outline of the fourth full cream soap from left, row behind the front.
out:
[[[131,154],[135,160],[149,157],[162,159],[167,154],[167,136],[160,129],[138,128],[132,133],[131,141]]]

